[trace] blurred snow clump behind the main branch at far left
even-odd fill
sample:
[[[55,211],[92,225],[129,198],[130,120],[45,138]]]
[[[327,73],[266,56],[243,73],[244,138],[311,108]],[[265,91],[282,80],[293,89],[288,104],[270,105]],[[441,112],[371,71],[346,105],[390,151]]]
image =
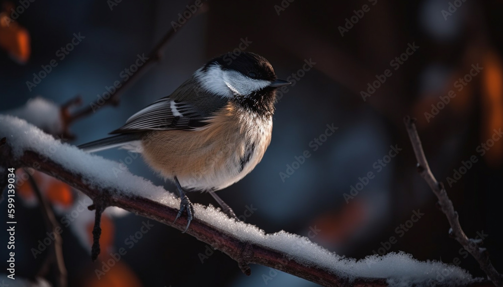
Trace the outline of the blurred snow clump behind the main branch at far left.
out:
[[[60,108],[42,97],[30,99],[25,106],[2,114],[25,119],[49,134],[56,135],[63,132]]]

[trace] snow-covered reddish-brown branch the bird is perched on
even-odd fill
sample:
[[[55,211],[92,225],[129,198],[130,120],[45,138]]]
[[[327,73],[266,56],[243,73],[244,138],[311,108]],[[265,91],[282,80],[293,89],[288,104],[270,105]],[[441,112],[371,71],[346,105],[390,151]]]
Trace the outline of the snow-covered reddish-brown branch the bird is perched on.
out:
[[[88,154],[55,140],[26,121],[0,115],[0,179],[7,168],[40,170],[79,189],[95,205],[117,206],[183,230],[186,219],[173,223],[180,200],[150,181],[131,174],[120,163]],[[0,186],[3,187],[3,186]],[[262,264],[325,286],[478,285],[467,271],[442,262],[420,262],[412,255],[389,253],[362,260],[344,258],[305,237],[280,231],[265,234],[258,227],[229,219],[219,209],[194,206],[197,217],[187,234],[221,250],[238,262]],[[439,274],[442,276],[439,277]],[[439,279],[441,278],[441,279]]]

